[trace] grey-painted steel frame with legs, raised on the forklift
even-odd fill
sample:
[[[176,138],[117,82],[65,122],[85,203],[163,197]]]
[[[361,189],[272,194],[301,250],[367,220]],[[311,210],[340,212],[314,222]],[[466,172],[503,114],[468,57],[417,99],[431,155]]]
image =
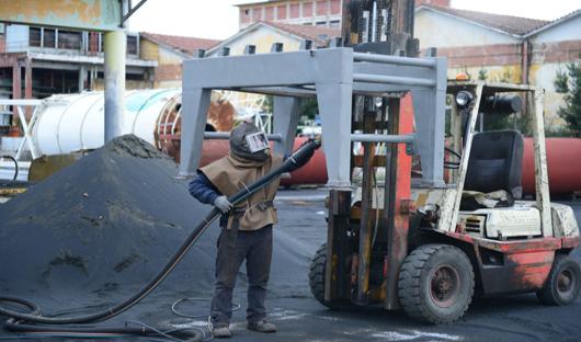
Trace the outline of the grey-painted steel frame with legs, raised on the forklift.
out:
[[[446,59],[354,53],[350,47],[195,58],[183,62],[180,176],[195,174],[212,90],[274,95],[276,152],[293,148],[301,98],[316,96],[322,122],[328,186],[351,190],[351,142],[411,144],[423,184],[444,186]],[[413,135],[352,134],[354,94],[394,96],[411,91]]]

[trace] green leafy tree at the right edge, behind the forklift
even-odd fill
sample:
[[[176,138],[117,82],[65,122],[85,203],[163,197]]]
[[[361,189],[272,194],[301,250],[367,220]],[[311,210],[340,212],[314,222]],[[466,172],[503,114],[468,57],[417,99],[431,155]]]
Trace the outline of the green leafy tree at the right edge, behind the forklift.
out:
[[[557,114],[573,136],[581,137],[581,62],[571,61],[567,70],[558,70],[554,84],[558,93],[565,94],[565,105]]]

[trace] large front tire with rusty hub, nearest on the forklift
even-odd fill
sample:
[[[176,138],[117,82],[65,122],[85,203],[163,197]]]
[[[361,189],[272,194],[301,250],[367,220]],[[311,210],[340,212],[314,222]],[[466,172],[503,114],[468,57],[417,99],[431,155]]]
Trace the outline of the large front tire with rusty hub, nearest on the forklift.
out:
[[[411,318],[434,324],[464,316],[474,295],[470,260],[451,244],[425,244],[413,250],[399,271],[399,301]]]

